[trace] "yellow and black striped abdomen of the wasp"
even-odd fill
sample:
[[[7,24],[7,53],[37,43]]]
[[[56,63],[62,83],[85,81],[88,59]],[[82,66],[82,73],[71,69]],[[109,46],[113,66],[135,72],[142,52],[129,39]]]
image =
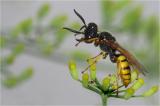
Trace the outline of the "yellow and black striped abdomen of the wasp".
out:
[[[129,63],[125,56],[120,55],[117,58],[117,64],[119,69],[119,76],[121,77],[124,86],[127,87],[131,82],[131,69]]]

